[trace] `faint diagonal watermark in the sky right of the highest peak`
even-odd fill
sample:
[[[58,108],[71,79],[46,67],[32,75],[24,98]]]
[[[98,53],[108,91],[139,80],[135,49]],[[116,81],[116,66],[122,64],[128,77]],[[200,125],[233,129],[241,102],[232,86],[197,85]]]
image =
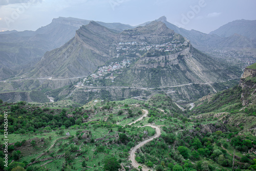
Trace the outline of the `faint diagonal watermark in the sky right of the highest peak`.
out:
[[[211,1],[211,0],[207,0]],[[200,13],[201,9],[206,6],[205,0],[199,0],[197,5],[190,5],[189,8],[191,9],[190,11],[187,11],[186,14],[182,13],[181,14],[181,23],[175,22],[174,24],[178,27],[184,27],[185,25],[188,25],[189,22],[196,17],[197,14]]]

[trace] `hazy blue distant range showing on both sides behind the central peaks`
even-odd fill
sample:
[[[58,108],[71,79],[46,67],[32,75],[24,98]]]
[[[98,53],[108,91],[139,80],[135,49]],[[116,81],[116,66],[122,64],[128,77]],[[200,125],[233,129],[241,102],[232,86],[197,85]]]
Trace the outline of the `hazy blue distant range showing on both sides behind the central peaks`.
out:
[[[235,20],[219,29],[205,34],[196,30],[185,30],[167,22],[162,16],[156,21],[188,38],[195,48],[210,55],[215,50],[237,50],[255,56],[255,20]],[[0,33],[0,80],[27,72],[50,50],[59,48],[75,36],[75,31],[91,20],[72,17],[54,18],[52,23],[36,31],[6,31]],[[96,22],[106,28],[121,32],[135,27],[121,23]],[[141,24],[145,26],[150,22]],[[65,35],[65,36],[63,36]]]

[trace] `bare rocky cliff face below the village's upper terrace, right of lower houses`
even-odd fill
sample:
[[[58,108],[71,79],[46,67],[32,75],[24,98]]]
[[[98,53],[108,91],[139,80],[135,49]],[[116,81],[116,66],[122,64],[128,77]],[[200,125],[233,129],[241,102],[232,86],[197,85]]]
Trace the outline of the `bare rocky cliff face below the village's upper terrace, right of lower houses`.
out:
[[[238,73],[234,71],[188,43],[186,49],[175,54],[140,57],[129,71],[117,79],[125,79],[132,87],[168,87],[224,81],[237,77]]]

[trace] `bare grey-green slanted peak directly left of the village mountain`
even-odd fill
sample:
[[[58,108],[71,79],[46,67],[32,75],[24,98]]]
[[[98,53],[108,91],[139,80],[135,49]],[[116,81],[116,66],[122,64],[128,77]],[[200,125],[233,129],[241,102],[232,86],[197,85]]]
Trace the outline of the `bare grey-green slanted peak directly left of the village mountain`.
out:
[[[111,56],[117,31],[90,22],[62,47],[47,52],[30,77],[72,78],[88,76]]]

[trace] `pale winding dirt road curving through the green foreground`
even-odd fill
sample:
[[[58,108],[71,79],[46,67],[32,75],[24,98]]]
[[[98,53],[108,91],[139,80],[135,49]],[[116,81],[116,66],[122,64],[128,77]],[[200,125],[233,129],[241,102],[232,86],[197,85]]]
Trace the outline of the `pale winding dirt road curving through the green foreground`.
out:
[[[137,121],[139,120],[142,120],[143,117],[146,117],[147,114],[148,114],[148,111],[147,110],[144,110],[143,109],[143,112],[144,112],[144,115],[142,117],[140,117],[139,119],[137,119],[136,121],[130,123],[129,125],[133,124],[133,123],[136,123]],[[152,141],[154,138],[158,138],[160,135],[161,135],[161,130],[159,129],[159,127],[157,126],[153,126],[153,125],[144,125],[144,126],[151,126],[153,129],[156,130],[156,134],[152,137],[150,137],[149,139],[145,140],[145,141],[142,141],[140,142],[138,145],[136,145],[135,147],[133,147],[131,149],[131,151],[129,152],[130,156],[129,156],[129,160],[132,161],[132,166],[135,167],[135,168],[138,168],[139,166],[142,166],[142,171],[148,171],[148,170],[153,170],[153,169],[150,169],[150,168],[147,168],[146,166],[144,165],[141,165],[139,164],[136,160],[135,160],[135,152],[138,148],[140,148],[141,146],[143,146],[144,144],[146,144],[147,142],[150,142]],[[139,127],[144,127],[144,126],[139,126]]]

